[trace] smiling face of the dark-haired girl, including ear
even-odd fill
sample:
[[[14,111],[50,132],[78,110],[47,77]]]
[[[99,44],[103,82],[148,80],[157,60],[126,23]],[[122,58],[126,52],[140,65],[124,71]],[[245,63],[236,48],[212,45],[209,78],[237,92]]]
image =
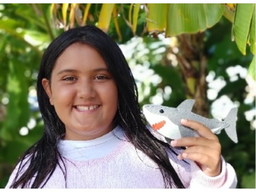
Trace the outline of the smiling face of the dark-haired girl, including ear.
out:
[[[42,85],[65,124],[67,140],[91,140],[114,129],[117,86],[95,48],[73,43]]]

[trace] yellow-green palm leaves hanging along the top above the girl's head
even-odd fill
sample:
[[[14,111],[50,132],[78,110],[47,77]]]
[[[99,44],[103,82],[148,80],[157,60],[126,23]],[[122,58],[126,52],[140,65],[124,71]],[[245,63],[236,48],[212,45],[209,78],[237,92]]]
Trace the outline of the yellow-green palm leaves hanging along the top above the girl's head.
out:
[[[74,27],[77,24],[83,26],[89,20],[93,24],[109,31],[111,19],[114,23],[119,40],[121,40],[120,21],[121,19],[130,28],[134,35],[137,35],[137,26],[144,23],[142,32],[161,33],[166,37],[180,35],[181,33],[203,32],[206,28],[213,27],[219,22],[222,16],[233,22],[232,35],[239,50],[245,55],[247,45],[255,55],[255,4],[254,3],[147,3],[147,4],[94,4],[63,3],[52,4],[52,13],[65,29]],[[129,6],[125,11],[124,6]],[[100,8],[99,8],[100,7]],[[95,9],[99,9],[96,12]],[[62,14],[57,14],[58,12]],[[144,16],[146,13],[146,16]],[[141,21],[144,19],[144,21]],[[86,22],[87,21],[87,22]],[[138,22],[140,21],[140,22]],[[254,60],[253,60],[254,61]],[[252,62],[249,73],[255,79],[255,63]]]

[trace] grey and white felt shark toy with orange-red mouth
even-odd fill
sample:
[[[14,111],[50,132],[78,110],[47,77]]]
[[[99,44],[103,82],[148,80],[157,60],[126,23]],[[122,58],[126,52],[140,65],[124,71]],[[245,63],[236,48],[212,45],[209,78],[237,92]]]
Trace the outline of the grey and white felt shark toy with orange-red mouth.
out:
[[[163,135],[166,141],[180,139],[181,137],[199,136],[196,131],[180,123],[181,119],[190,119],[205,125],[214,134],[219,134],[224,129],[232,141],[238,142],[236,130],[237,108],[231,109],[224,121],[219,121],[217,119],[207,119],[191,112],[194,103],[195,100],[188,99],[183,101],[177,108],[144,105],[142,110],[147,122],[154,130]]]

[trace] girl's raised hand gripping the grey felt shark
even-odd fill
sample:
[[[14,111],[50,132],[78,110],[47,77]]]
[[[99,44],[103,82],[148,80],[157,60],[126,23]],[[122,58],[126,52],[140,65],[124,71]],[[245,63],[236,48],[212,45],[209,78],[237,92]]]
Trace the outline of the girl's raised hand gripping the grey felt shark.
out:
[[[190,159],[196,162],[208,176],[217,176],[221,172],[221,145],[218,137],[208,127],[192,120],[181,120],[181,124],[198,132],[200,137],[184,137],[171,141],[171,146],[185,146],[178,159]]]

